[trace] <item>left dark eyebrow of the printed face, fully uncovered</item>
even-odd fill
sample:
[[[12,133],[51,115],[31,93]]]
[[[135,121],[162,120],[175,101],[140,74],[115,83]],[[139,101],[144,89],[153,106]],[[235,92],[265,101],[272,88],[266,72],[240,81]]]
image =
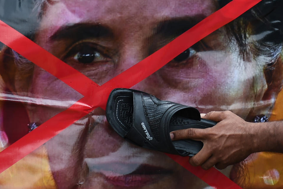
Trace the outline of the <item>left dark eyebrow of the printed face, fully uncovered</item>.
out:
[[[111,38],[113,36],[112,30],[101,24],[77,23],[60,27],[59,30],[50,37],[50,40],[70,38],[81,40],[85,38]]]

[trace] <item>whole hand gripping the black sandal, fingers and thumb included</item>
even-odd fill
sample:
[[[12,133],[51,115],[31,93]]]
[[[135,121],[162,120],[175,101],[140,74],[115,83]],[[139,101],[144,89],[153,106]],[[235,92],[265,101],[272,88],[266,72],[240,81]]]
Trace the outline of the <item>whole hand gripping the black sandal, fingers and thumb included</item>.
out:
[[[203,148],[190,158],[193,166],[201,165],[207,170],[215,165],[217,169],[224,169],[256,152],[255,123],[246,122],[231,111],[212,111],[202,118],[218,123],[211,128],[189,128],[170,133],[172,140],[193,139],[203,142]]]

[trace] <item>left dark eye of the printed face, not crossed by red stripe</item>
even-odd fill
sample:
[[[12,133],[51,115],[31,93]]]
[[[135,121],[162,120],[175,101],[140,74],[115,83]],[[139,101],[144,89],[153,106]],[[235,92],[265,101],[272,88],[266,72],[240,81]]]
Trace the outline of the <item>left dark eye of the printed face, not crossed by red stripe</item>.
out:
[[[109,59],[99,53],[96,49],[89,46],[83,47],[82,49],[78,50],[78,53],[76,53],[73,58],[78,62],[85,64],[92,63],[93,61],[103,61]]]

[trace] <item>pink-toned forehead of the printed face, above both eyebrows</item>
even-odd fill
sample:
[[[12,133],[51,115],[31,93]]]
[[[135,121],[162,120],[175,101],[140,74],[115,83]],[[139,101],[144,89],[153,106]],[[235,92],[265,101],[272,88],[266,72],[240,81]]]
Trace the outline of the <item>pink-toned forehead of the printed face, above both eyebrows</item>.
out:
[[[57,0],[48,7],[45,25],[78,22],[103,24],[146,23],[172,17],[210,15],[215,0]],[[120,22],[120,23],[119,23]],[[123,23],[121,23],[123,22]]]

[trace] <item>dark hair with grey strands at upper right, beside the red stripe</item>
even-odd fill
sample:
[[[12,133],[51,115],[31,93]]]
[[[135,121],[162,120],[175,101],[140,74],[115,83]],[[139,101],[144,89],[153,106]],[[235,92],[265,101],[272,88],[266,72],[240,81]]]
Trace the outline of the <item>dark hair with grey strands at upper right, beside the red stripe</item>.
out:
[[[229,2],[231,0],[218,0],[219,8]],[[263,0],[226,25],[244,59],[264,55],[266,60],[270,59],[266,62],[267,68],[275,63],[282,52],[282,7],[282,0]]]

